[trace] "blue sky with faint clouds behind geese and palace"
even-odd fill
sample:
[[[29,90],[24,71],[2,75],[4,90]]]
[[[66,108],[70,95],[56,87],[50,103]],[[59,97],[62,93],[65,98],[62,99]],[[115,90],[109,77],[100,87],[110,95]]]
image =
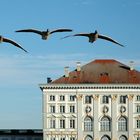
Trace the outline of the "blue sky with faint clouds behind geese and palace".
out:
[[[75,69],[94,59],[116,59],[140,70],[140,0],[0,0],[0,34],[29,53],[0,44],[0,129],[42,128],[40,83],[58,78],[64,67]],[[37,34],[16,33],[34,28],[73,29],[56,33],[45,41]],[[86,37],[60,38],[75,34],[99,33],[126,47]]]

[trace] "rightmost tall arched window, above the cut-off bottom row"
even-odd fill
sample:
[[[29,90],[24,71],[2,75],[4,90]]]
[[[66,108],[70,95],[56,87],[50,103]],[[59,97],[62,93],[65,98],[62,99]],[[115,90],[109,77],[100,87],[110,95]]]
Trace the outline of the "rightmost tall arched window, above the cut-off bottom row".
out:
[[[121,116],[118,121],[118,130],[127,131],[127,119],[124,116]]]

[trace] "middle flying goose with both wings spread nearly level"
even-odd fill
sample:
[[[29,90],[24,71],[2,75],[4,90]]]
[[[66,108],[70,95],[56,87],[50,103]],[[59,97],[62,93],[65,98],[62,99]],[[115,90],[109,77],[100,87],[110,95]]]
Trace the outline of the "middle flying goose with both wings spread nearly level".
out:
[[[23,29],[23,30],[17,30],[16,32],[32,32],[32,33],[36,33],[41,35],[43,40],[47,40],[48,36],[53,34],[53,33],[57,33],[57,32],[71,32],[71,29],[57,29],[57,30],[53,30],[53,31],[49,31],[49,29],[47,29],[46,31],[39,31],[39,30],[35,30],[35,29]]]

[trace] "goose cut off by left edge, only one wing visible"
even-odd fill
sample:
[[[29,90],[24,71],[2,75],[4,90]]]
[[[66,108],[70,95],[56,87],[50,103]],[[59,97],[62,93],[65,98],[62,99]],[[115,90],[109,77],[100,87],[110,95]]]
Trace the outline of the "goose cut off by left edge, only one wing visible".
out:
[[[27,52],[25,49],[23,49],[23,48],[22,48],[19,44],[17,44],[15,41],[12,41],[12,40],[10,40],[10,39],[4,38],[4,37],[2,37],[2,36],[0,35],[0,43],[2,43],[2,42],[10,43],[10,44],[12,44],[12,45],[14,45],[14,46],[16,46],[16,47],[22,49],[23,51]]]

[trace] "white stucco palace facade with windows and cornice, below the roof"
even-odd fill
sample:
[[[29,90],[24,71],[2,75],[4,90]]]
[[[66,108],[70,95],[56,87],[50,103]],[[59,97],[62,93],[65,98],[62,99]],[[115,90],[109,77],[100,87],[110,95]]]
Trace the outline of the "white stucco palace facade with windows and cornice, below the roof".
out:
[[[44,140],[140,140],[140,84],[40,84]]]

